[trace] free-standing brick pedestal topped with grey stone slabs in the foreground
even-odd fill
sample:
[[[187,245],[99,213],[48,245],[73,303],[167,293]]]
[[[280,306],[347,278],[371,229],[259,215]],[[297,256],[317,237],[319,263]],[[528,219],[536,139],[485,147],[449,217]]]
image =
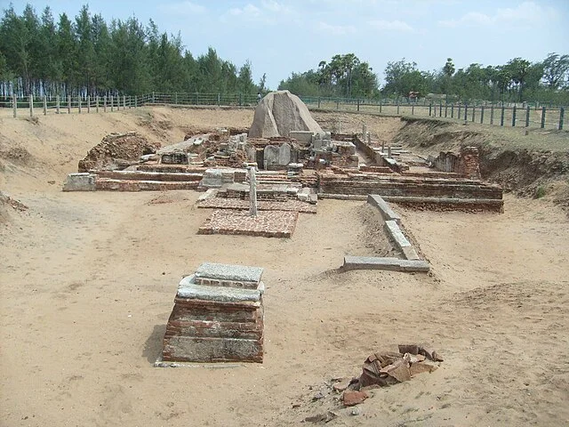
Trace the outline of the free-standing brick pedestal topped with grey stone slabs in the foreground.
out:
[[[263,361],[263,269],[203,263],[183,278],[156,367]]]

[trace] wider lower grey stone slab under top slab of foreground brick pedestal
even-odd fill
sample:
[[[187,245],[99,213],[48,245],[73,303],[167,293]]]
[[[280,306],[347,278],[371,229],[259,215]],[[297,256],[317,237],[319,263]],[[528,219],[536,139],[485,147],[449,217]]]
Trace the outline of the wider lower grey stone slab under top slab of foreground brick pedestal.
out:
[[[262,269],[261,269],[262,270]],[[244,289],[229,286],[196,285],[195,275],[182,278],[178,286],[179,298],[189,300],[204,300],[213,302],[255,302],[260,305],[260,296],[265,286],[260,282],[257,289]]]

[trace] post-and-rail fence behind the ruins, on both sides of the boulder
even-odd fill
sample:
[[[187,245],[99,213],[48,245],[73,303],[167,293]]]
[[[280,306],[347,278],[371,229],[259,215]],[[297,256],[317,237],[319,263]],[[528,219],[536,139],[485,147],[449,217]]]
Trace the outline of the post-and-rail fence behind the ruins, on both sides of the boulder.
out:
[[[401,102],[344,98],[302,97],[310,109],[353,111],[385,116],[445,117],[472,123],[500,126],[523,126],[541,129],[563,129],[565,108],[538,107],[537,104],[477,104]],[[257,95],[252,93],[148,93],[140,96],[84,96],[67,98],[12,97],[0,99],[0,117],[18,117],[48,114],[82,114],[119,111],[148,105],[253,107]]]

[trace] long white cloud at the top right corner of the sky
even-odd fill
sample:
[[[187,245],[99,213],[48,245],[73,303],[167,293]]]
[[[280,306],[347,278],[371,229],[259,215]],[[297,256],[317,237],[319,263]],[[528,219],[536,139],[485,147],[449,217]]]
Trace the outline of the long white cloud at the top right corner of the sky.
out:
[[[481,27],[493,24],[512,25],[547,22],[557,19],[557,13],[551,7],[534,2],[524,2],[515,8],[497,9],[493,15],[469,12],[457,20],[439,20],[441,27]]]

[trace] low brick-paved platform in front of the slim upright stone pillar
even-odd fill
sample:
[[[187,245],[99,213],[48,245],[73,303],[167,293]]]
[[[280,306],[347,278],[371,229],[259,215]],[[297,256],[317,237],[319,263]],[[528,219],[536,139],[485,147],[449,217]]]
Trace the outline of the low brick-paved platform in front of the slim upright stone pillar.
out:
[[[260,211],[253,217],[246,211],[216,210],[197,233],[290,238],[298,217],[298,212]]]

